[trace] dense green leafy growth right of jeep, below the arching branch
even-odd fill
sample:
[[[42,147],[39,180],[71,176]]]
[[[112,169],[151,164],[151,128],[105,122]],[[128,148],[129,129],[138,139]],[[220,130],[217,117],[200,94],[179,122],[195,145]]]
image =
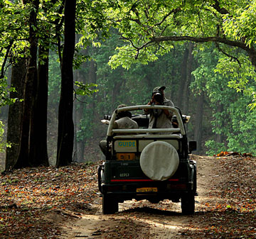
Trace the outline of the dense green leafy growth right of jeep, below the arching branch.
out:
[[[241,52],[233,52],[233,55],[237,60],[211,48],[196,55],[200,66],[193,72],[195,81],[191,84],[191,90],[194,94],[201,91],[207,94],[212,131],[223,138],[223,142],[206,141],[210,155],[220,151],[256,154],[256,112],[248,107],[251,92],[256,87],[254,69]],[[247,64],[239,65],[239,62]]]

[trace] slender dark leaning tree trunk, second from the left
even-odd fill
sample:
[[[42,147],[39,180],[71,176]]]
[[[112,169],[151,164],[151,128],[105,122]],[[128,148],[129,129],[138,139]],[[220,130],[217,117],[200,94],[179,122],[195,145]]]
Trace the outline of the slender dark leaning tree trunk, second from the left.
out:
[[[28,58],[28,70],[25,79],[24,107],[21,122],[21,144],[18,153],[18,160],[15,165],[16,168],[32,166],[31,162],[29,162],[29,144],[33,142],[29,140],[29,137],[31,130],[33,90],[36,88],[35,84],[37,82],[37,37],[36,30],[34,30],[34,27],[36,26],[36,16],[38,11],[39,0],[31,0],[31,3],[33,4],[33,11],[31,11],[29,18],[30,57]]]

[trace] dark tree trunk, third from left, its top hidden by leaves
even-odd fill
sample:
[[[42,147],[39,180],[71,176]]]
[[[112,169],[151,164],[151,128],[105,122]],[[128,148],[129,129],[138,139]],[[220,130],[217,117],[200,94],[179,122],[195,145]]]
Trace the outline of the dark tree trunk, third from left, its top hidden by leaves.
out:
[[[40,47],[41,55],[49,55],[49,49]],[[33,111],[31,117],[31,147],[29,151],[30,162],[33,166],[48,166],[47,153],[47,103],[48,103],[48,57],[38,63],[38,85],[36,96],[33,98]],[[33,142],[33,143],[32,143]]]

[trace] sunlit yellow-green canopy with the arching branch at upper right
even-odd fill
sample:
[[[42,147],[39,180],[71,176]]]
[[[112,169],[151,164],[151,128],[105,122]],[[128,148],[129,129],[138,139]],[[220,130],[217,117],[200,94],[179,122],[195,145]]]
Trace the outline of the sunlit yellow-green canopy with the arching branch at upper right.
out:
[[[255,87],[250,84],[250,81],[256,79],[256,63],[253,60],[256,57],[255,9],[255,1],[238,0],[116,1],[116,4],[109,6],[107,12],[115,20],[114,28],[119,30],[124,44],[117,46],[117,52],[114,52],[109,64],[113,69],[120,65],[129,69],[137,62],[146,65],[147,62],[159,60],[159,56],[175,47],[176,41],[216,41],[218,50],[225,52],[220,59],[215,59],[219,60],[216,72],[229,78],[225,87],[253,97],[249,105],[255,109]],[[200,48],[207,49],[208,45]],[[214,75],[210,69],[202,67],[194,73],[208,79],[213,79],[211,75]],[[218,78],[222,77],[218,75]],[[218,82],[214,83],[213,80],[213,84]],[[201,94],[203,88],[213,85],[197,81],[191,87],[197,91],[196,94]],[[211,101],[216,101],[221,95],[218,91],[210,94]]]

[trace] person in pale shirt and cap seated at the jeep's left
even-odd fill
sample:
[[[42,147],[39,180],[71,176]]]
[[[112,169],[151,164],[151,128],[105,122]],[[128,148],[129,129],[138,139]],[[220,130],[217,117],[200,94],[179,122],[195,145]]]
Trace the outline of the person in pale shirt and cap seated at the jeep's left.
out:
[[[118,108],[126,107],[125,104],[120,104]],[[117,120],[114,121],[113,129],[121,128],[139,128],[136,121],[132,120],[132,113],[129,111],[122,111],[117,113]],[[132,133],[133,134],[133,133]],[[129,133],[117,133],[117,135],[129,135]],[[103,154],[107,154],[107,140],[100,141],[100,149]]]

